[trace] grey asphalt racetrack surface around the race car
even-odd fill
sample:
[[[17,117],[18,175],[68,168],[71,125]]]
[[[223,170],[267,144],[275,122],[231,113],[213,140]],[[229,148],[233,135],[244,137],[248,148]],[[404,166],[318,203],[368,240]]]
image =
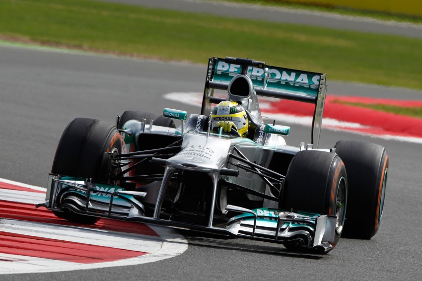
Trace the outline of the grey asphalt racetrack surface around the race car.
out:
[[[115,116],[125,110],[160,114],[163,107],[170,107],[188,113],[199,111],[196,106],[169,101],[163,96],[173,91],[202,92],[205,66],[15,47],[0,47],[0,54],[1,178],[45,186],[56,145],[66,125],[75,117],[113,124]],[[338,86],[344,95],[349,91],[349,95],[364,94],[372,88]],[[308,127],[293,125],[286,141],[298,146],[301,141],[308,141],[309,136]],[[341,239],[328,255],[318,256],[291,253],[268,243],[183,232],[189,247],[176,258],[139,266],[1,278],[8,281],[420,280],[421,145],[323,128],[320,147],[333,147],[341,139],[379,143],[390,156],[385,213],[379,232],[371,240]]]

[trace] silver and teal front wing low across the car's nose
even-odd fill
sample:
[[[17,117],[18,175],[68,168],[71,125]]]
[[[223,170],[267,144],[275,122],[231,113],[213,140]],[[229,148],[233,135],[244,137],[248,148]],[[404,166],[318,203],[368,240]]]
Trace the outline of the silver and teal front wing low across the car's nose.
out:
[[[279,243],[328,253],[335,246],[336,216],[292,210],[260,208],[249,210],[228,205],[225,210],[238,212],[227,223],[195,223],[146,216],[142,203],[144,192],[125,191],[118,186],[94,184],[83,179],[50,174],[45,207],[53,211],[69,209],[75,213],[126,221],[165,225],[208,233]],[[156,207],[157,208],[157,207]],[[154,211],[159,213],[159,211]],[[211,214],[212,215],[212,214]]]

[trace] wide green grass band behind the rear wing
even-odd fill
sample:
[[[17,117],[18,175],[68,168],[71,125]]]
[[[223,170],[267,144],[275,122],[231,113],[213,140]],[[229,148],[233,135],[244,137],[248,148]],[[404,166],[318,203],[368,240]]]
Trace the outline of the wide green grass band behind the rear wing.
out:
[[[0,39],[206,64],[212,56],[422,89],[422,40],[89,0],[0,0]]]

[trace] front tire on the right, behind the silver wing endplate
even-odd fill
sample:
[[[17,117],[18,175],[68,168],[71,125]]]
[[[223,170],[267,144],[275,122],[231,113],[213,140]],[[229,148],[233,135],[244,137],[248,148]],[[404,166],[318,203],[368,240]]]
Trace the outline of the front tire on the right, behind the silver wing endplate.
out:
[[[304,150],[293,157],[280,192],[279,208],[337,216],[334,246],[345,223],[348,197],[345,165],[335,153]],[[286,245],[293,249],[294,245]]]

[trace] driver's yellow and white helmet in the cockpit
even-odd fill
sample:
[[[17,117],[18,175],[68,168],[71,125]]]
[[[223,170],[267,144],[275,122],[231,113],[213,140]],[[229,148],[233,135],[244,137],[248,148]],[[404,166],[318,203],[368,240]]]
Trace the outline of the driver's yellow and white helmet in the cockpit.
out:
[[[248,117],[246,110],[237,102],[222,101],[212,110],[212,127],[214,128],[219,121],[231,121],[236,125],[237,132],[242,138],[248,134]]]

